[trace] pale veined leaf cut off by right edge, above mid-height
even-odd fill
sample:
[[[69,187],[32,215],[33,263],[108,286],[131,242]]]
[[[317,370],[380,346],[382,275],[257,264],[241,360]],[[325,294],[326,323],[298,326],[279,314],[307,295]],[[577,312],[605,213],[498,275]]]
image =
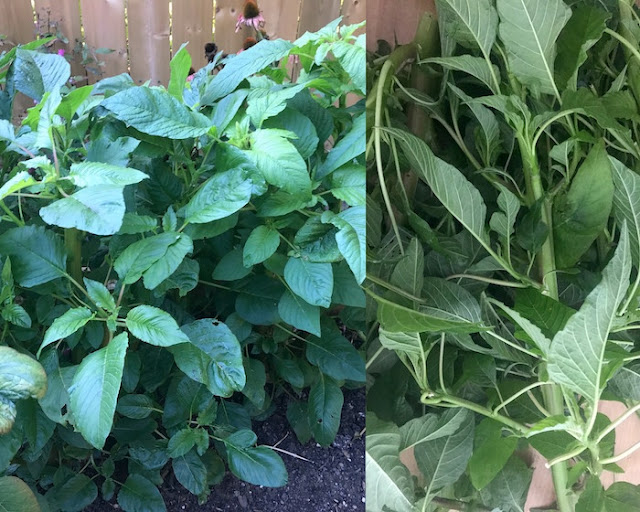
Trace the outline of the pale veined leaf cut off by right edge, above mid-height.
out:
[[[640,266],[640,176],[622,162],[609,157],[613,177],[613,215],[622,225],[627,222],[631,256]]]

